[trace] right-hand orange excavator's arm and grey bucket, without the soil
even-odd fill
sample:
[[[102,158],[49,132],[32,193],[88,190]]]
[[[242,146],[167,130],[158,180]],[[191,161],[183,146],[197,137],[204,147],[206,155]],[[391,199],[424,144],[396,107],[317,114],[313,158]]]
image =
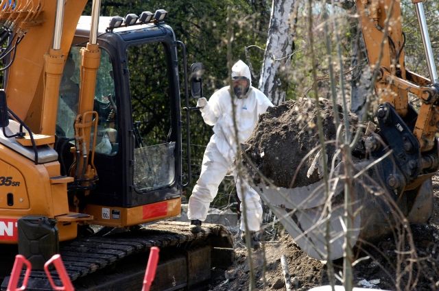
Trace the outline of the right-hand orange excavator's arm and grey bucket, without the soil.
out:
[[[427,223],[433,212],[431,176],[439,167],[439,83],[423,1],[412,2],[429,78],[405,68],[399,1],[355,1],[379,106],[377,129],[368,128],[359,142],[364,150],[348,177],[353,180],[348,197],[343,163],[335,163],[333,173],[338,175],[329,179],[329,191],[324,190],[324,181],[299,188],[270,187],[265,182],[255,187],[311,257],[343,257],[345,242],[354,246],[379,240],[403,223]],[[417,97],[418,109],[409,103],[409,94]],[[351,200],[346,203],[349,212],[345,212],[346,199]]]

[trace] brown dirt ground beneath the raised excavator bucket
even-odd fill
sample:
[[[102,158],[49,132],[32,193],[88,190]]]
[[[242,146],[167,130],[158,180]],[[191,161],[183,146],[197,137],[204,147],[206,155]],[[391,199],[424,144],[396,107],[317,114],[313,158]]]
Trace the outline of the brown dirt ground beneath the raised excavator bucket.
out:
[[[433,177],[433,185],[435,211],[429,225],[411,227],[416,246],[416,262],[412,262],[412,265],[409,262],[399,264],[396,245],[391,237],[364,247],[361,251],[356,248],[356,259],[363,260],[353,268],[354,286],[382,290],[439,290],[439,175]],[[410,245],[407,242],[405,245],[409,252]],[[248,290],[250,272],[247,250],[238,246],[236,255],[233,266],[225,271],[217,271],[209,290]],[[301,251],[287,233],[281,234],[276,240],[264,242],[263,249],[252,255],[256,290],[286,290],[281,267],[282,255],[287,258],[293,290],[305,291],[328,283],[326,264]],[[341,275],[342,260],[333,263],[335,273]],[[405,267],[407,270],[404,270]],[[338,280],[335,283],[342,284]]]

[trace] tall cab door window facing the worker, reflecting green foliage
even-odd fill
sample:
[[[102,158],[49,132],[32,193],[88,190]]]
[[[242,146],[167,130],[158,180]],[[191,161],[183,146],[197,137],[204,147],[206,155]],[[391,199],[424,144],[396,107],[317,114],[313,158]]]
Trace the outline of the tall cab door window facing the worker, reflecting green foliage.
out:
[[[175,179],[176,138],[171,130],[170,77],[160,42],[128,47],[134,129],[134,187],[143,192]]]

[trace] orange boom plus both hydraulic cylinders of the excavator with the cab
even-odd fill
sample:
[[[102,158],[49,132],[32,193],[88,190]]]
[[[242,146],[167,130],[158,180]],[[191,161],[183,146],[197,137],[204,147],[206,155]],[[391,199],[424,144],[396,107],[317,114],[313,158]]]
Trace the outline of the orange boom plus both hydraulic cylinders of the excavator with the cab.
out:
[[[86,0],[23,0],[17,2],[16,8],[8,7],[2,11],[3,21],[13,23],[10,27],[14,33],[25,36],[16,44],[14,62],[8,70],[5,88],[9,107],[34,133],[47,136],[47,144],[54,143],[62,72],[85,4]],[[75,123],[78,149],[75,178],[81,187],[86,188],[92,188],[97,180],[91,129],[96,128],[97,121],[93,101],[100,60],[97,45],[99,7],[100,1],[93,1],[95,16],[92,25],[95,29],[91,31],[90,42],[82,49],[80,98]],[[8,14],[10,10],[13,12]],[[26,86],[23,86],[24,79]],[[92,149],[91,154],[89,149]]]

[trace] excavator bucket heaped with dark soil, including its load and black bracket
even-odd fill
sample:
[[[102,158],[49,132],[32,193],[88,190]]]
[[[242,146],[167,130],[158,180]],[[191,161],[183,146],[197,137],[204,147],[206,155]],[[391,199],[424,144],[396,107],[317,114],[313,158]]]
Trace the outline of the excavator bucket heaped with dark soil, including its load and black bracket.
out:
[[[327,99],[319,103],[320,110],[312,99],[269,109],[243,154],[255,190],[300,248],[318,260],[335,260],[343,257],[346,242],[361,249],[383,236],[396,238],[401,225],[410,231],[407,223],[427,223],[438,142],[420,151],[413,134],[416,110],[409,106],[402,118],[390,103],[380,104],[378,124],[367,126],[355,143],[351,140],[352,162],[344,164],[334,112],[347,119],[351,137],[366,125],[343,114],[340,105]],[[309,126],[316,124],[317,114],[323,119],[324,150],[316,127]],[[322,157],[331,168],[327,184]]]

